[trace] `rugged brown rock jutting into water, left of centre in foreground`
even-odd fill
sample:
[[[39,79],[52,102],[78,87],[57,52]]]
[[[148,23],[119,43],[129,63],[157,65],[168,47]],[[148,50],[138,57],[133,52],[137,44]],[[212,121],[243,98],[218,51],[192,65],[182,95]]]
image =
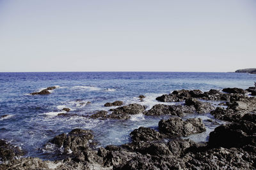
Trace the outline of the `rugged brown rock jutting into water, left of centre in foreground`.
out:
[[[89,140],[93,139],[92,131],[83,129],[73,129],[68,134],[55,136],[49,142],[56,146],[63,147],[63,153],[70,152],[77,154],[83,150],[88,150]]]

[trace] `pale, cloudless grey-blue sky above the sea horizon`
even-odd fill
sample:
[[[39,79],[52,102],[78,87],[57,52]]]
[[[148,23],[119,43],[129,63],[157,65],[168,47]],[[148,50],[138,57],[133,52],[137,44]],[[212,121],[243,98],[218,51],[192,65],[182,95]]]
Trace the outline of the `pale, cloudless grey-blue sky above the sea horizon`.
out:
[[[256,67],[255,0],[0,0],[0,72]]]

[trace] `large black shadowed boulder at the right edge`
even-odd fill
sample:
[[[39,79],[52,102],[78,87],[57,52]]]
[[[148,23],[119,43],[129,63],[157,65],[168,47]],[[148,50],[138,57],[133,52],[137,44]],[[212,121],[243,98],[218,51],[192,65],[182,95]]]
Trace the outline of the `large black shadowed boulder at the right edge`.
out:
[[[220,125],[209,136],[209,146],[224,148],[241,148],[256,144],[256,124],[246,120],[238,123]]]

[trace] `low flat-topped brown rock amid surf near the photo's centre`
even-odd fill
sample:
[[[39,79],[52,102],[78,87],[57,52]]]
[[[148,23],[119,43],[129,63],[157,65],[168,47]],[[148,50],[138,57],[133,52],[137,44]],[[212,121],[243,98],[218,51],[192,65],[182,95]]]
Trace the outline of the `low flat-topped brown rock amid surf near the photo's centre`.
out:
[[[134,103],[134,104],[129,104],[127,106],[111,109],[110,111],[113,111],[114,114],[126,113],[128,115],[137,115],[145,111],[145,106]]]

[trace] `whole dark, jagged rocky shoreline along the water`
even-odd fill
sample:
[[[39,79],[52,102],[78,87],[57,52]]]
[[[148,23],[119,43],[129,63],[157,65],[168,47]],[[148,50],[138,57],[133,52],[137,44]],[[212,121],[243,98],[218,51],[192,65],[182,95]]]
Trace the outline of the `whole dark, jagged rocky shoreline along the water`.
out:
[[[222,92],[175,90],[156,100],[179,103],[156,104],[149,110],[141,104],[106,103],[106,107],[119,107],[109,110],[111,113],[98,111],[90,118],[124,121],[140,113],[151,117],[170,115],[170,118],[159,121],[158,131],[149,127],[134,129],[131,142],[120,146],[97,148],[93,131],[86,129],[59,134],[43,146],[56,147],[54,154],[60,155],[60,159],[55,161],[22,158],[24,151],[0,140],[0,169],[256,169],[255,92],[255,87],[228,88]],[[215,108],[207,101],[220,101],[220,106]],[[184,120],[184,115],[203,113],[211,113],[227,124],[216,127],[207,143],[184,139],[205,131],[200,118]]]

